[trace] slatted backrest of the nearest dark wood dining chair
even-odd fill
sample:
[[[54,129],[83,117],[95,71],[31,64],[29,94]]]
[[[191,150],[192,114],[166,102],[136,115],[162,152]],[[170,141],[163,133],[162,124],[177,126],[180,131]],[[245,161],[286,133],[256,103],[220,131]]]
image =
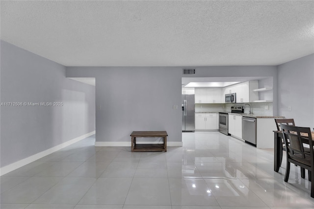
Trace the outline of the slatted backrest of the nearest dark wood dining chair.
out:
[[[314,148],[310,128],[281,124],[286,145],[287,158],[314,167]],[[304,143],[310,145],[310,152],[304,152]]]

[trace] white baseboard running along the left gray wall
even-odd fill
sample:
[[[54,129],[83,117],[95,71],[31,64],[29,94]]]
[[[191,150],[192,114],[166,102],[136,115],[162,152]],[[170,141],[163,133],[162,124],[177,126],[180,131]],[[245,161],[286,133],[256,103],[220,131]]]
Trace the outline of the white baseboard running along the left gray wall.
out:
[[[35,155],[32,155],[30,157],[26,157],[24,159],[21,159],[21,160],[19,160],[17,162],[11,163],[11,164],[6,165],[6,166],[3,166],[2,168],[0,168],[0,176],[4,175],[6,173],[9,173],[9,172],[11,172],[11,171],[13,171],[15,169],[18,169],[18,168],[20,168],[20,167],[22,167],[24,165],[27,165],[28,163],[31,163],[31,162],[33,162],[33,161],[35,161],[37,159],[40,159],[40,158],[45,157],[45,156],[48,156],[48,155],[52,154],[53,152],[56,152],[56,151],[58,151],[58,150],[60,150],[62,148],[65,148],[65,147],[67,147],[67,146],[69,146],[71,144],[74,144],[74,143],[76,143],[76,142],[78,142],[78,141],[80,141],[80,140],[82,140],[82,139],[84,139],[84,138],[86,138],[88,136],[94,135],[95,133],[96,133],[96,131],[92,131],[92,132],[86,133],[84,135],[78,136],[77,138],[71,139],[71,140],[69,140],[67,142],[64,142],[64,143],[59,144],[59,145],[57,145],[55,147],[52,147],[52,148],[50,148],[48,150],[42,151],[42,152],[37,153]]]

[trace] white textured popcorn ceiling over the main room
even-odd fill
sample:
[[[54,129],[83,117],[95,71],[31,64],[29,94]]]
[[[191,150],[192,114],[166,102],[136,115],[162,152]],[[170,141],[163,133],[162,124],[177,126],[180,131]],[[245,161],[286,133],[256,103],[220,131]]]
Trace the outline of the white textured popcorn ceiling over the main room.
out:
[[[3,1],[1,39],[65,66],[278,65],[314,53],[314,1]]]

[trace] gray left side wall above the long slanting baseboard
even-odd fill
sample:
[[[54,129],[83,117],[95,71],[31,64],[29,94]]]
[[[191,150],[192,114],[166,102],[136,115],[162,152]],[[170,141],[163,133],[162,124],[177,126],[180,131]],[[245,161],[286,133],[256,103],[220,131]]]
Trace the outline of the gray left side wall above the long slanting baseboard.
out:
[[[95,130],[95,87],[65,77],[66,68],[1,41],[1,167]]]

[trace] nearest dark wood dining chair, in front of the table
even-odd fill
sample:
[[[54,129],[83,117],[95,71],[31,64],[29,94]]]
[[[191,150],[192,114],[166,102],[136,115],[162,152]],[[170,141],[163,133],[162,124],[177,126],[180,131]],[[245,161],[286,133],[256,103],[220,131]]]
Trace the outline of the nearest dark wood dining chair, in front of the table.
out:
[[[281,129],[283,131],[287,153],[287,168],[284,181],[288,182],[291,162],[311,171],[311,179],[314,179],[314,148],[311,129],[285,124],[281,124]],[[310,152],[305,152],[305,143],[310,145]],[[311,197],[314,198],[314,183],[312,182]]]

